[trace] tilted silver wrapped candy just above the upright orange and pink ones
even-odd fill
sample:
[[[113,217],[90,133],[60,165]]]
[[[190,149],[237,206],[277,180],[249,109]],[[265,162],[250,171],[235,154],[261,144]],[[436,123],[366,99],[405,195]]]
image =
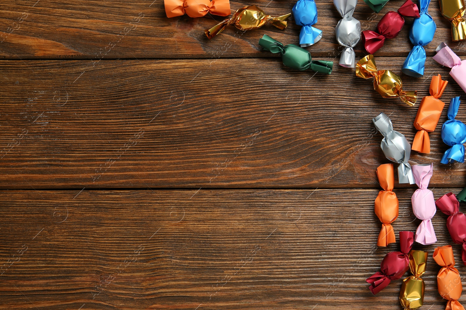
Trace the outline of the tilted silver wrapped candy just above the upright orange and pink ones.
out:
[[[385,113],[380,113],[372,119],[376,129],[384,135],[380,147],[386,158],[398,164],[398,183],[414,184],[414,176],[411,165],[408,163],[411,155],[411,145],[408,140],[399,132],[393,130],[391,120]]]

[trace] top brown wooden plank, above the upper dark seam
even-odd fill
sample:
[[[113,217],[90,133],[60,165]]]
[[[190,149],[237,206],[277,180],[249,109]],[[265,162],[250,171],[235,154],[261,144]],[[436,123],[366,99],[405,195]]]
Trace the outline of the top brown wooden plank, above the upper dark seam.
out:
[[[334,57],[341,52],[335,39],[335,26],[340,20],[332,1],[316,1],[319,20],[315,25],[323,31],[322,40],[312,47],[319,57]],[[359,1],[354,17],[363,30],[375,30],[377,22],[389,10],[397,10],[403,0],[391,0],[376,14]],[[35,5],[34,5],[35,3]],[[295,1],[258,0],[254,3],[271,15],[291,12]],[[232,11],[246,5],[231,2]],[[450,24],[439,12],[438,1],[432,1],[429,13],[437,24],[434,40],[426,46],[432,56],[440,42],[446,41],[459,55],[466,55],[464,43],[452,43]],[[284,44],[297,44],[300,26],[288,19],[284,31],[264,26],[256,31],[241,33],[229,27],[213,40],[207,40],[204,30],[223,18],[210,15],[192,19],[186,15],[167,18],[163,0],[127,1],[63,1],[63,0],[4,0],[0,4],[0,57],[8,59],[36,58],[231,58],[274,57],[261,52],[259,38],[264,33]],[[406,56],[412,48],[408,39],[412,19],[398,37],[387,40],[377,52],[379,56]],[[356,54],[362,56],[362,45]]]

